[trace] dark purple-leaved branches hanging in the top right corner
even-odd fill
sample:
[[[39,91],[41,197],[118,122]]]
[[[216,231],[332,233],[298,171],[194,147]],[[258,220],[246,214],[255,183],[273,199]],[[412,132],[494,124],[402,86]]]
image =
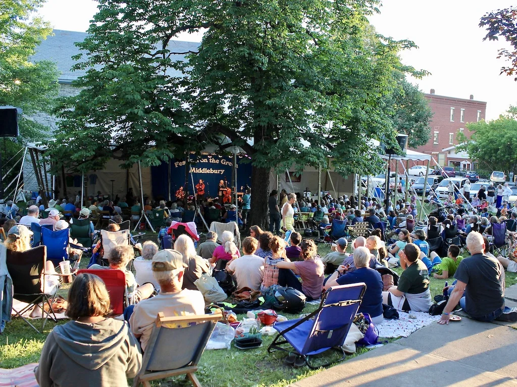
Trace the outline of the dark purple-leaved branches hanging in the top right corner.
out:
[[[481,18],[479,26],[488,31],[483,40],[499,40],[501,36],[510,43],[511,49],[500,49],[497,57],[510,62],[508,66],[501,67],[501,74],[516,75],[514,80],[517,81],[517,7],[487,12]]]

